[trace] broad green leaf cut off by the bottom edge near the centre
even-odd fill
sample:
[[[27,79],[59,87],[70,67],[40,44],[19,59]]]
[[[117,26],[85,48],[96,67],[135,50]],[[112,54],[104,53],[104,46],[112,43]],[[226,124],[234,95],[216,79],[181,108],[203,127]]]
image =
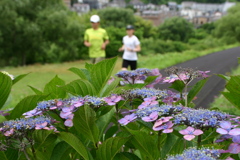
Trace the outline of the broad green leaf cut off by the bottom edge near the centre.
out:
[[[129,140],[129,138],[111,137],[103,142],[97,150],[97,159],[112,160],[121,147]]]

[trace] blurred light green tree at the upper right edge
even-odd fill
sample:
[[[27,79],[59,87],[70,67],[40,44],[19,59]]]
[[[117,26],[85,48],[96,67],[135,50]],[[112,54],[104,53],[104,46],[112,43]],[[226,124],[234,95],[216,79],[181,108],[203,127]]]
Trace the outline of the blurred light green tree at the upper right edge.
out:
[[[216,22],[214,36],[227,44],[240,42],[240,4],[231,7],[228,14]]]

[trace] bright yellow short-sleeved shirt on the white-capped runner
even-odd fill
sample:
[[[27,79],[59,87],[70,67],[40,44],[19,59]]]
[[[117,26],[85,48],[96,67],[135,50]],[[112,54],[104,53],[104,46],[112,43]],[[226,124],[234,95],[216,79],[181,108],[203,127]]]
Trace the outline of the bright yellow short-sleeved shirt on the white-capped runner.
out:
[[[98,28],[94,30],[93,28],[89,28],[85,31],[84,41],[88,41],[91,46],[89,47],[89,57],[106,57],[105,50],[101,49],[104,41],[108,40],[108,34],[105,29]]]

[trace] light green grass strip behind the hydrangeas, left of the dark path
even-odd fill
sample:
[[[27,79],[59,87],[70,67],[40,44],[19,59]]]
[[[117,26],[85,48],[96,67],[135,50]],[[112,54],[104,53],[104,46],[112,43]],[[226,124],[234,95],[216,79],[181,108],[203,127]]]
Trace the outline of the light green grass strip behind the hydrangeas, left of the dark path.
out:
[[[183,53],[167,53],[167,54],[157,54],[148,56],[139,56],[138,67],[139,68],[165,68],[169,67],[193,58],[207,55],[209,53],[225,50],[228,48],[235,47],[237,45],[224,46],[215,49],[209,49],[201,52],[197,51],[186,51]],[[5,104],[4,108],[12,108],[16,106],[21,99],[28,95],[33,95],[34,92],[28,87],[32,86],[39,90],[43,90],[46,83],[48,83],[52,78],[58,75],[59,78],[63,79],[66,83],[69,83],[78,77],[70,72],[68,69],[71,67],[84,68],[85,63],[89,61],[74,61],[60,64],[35,64],[25,67],[4,67],[0,70],[9,72],[10,74],[17,76],[19,74],[29,73],[26,77],[20,80],[12,87],[11,95]],[[118,58],[115,65],[113,74],[121,70],[122,59]]]

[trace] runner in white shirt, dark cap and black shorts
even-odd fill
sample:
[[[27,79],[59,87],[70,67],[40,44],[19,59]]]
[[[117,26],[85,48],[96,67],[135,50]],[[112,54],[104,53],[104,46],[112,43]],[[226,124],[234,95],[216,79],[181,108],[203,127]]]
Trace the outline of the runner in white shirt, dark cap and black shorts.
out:
[[[127,70],[130,66],[131,70],[137,69],[137,52],[141,51],[140,41],[134,35],[134,27],[127,25],[127,35],[123,37],[123,46],[119,48],[119,51],[123,53],[122,70]]]

